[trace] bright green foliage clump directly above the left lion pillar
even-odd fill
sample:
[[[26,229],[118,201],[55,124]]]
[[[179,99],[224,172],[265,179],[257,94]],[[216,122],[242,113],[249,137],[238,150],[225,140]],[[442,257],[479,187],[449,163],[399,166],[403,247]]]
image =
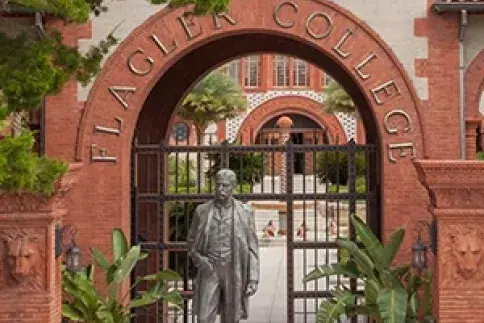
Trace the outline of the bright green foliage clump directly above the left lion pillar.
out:
[[[0,189],[47,195],[54,191],[54,183],[67,171],[67,165],[36,156],[32,152],[33,145],[31,132],[0,140]]]

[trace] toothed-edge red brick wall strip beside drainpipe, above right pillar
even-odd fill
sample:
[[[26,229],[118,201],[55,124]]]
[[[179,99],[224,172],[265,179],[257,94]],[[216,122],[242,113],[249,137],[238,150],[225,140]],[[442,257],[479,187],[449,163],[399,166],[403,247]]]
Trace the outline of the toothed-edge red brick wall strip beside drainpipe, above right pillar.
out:
[[[415,35],[428,39],[428,58],[415,62],[415,75],[428,79],[428,100],[420,110],[425,151],[428,158],[459,159],[459,20],[435,15],[433,3],[427,1],[428,17],[415,20]]]

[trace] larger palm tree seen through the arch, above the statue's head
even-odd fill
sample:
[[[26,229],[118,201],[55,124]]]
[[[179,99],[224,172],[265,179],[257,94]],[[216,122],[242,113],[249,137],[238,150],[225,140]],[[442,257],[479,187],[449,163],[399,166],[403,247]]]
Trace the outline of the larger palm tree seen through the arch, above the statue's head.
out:
[[[247,109],[247,98],[229,76],[214,71],[196,84],[183,100],[178,115],[192,121],[201,142],[211,123],[230,119]]]

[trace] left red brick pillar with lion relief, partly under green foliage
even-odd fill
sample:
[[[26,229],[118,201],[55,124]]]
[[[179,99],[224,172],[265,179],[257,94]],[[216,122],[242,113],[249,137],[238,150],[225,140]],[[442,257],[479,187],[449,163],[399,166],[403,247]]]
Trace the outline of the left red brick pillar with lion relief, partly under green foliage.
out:
[[[0,323],[61,321],[54,228],[67,213],[65,195],[80,168],[71,165],[50,198],[0,193]]]

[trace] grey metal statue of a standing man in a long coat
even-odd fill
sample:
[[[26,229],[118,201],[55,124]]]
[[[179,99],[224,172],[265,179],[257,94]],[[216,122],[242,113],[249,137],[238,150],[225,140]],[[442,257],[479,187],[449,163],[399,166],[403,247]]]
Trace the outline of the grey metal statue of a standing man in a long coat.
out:
[[[259,244],[254,212],[232,197],[230,169],[216,175],[215,199],[195,210],[188,253],[198,268],[193,311],[198,323],[238,323],[248,316],[248,298],[259,283]]]

